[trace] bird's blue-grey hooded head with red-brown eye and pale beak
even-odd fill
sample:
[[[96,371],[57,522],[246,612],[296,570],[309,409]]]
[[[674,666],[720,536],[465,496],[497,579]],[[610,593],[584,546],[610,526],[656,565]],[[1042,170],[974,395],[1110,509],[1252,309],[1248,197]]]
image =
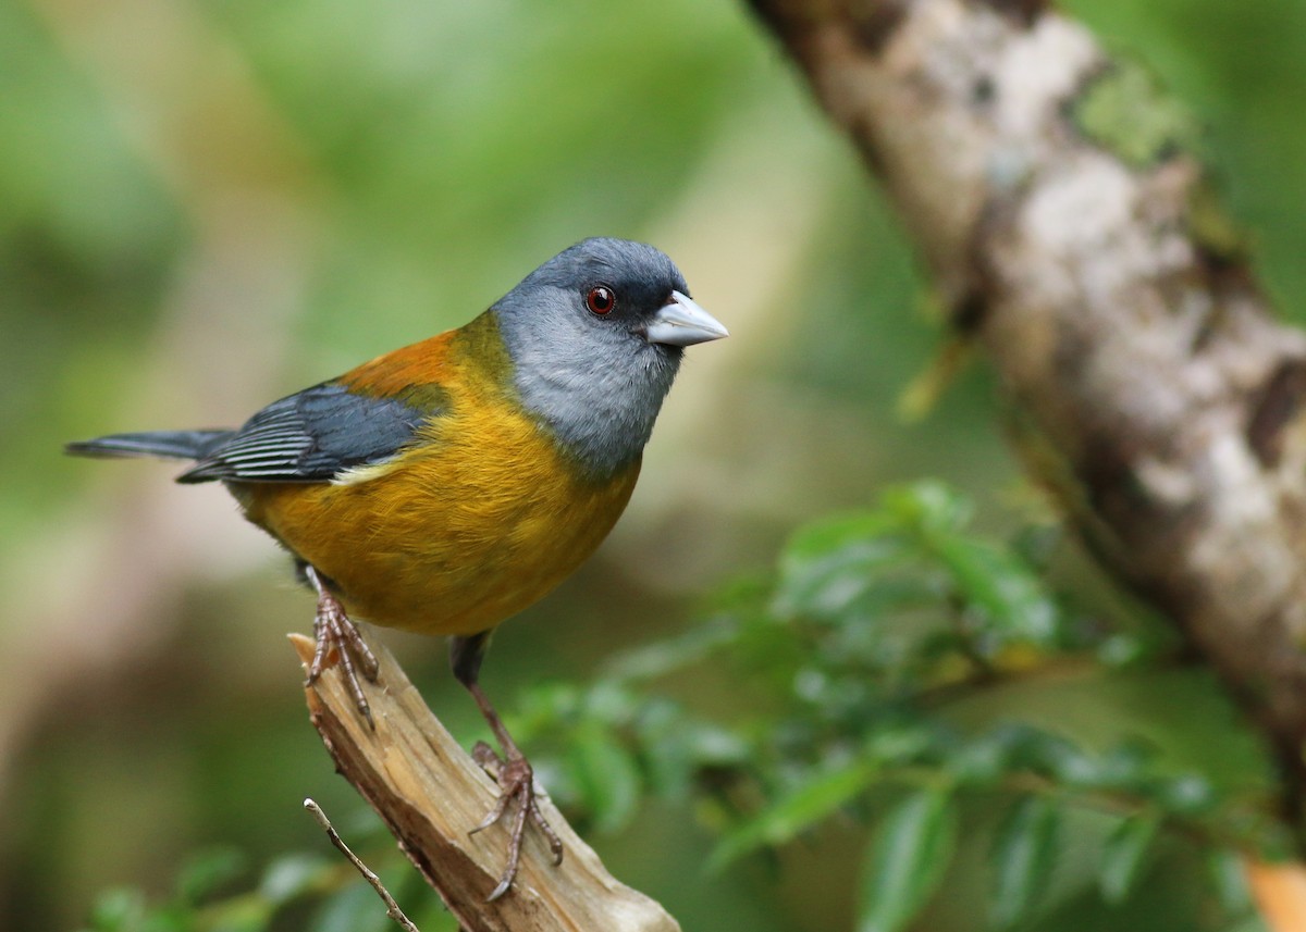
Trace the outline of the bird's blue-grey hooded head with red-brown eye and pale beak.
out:
[[[726,335],[650,245],[588,239],[490,308],[522,405],[596,478],[648,443],[684,347]]]

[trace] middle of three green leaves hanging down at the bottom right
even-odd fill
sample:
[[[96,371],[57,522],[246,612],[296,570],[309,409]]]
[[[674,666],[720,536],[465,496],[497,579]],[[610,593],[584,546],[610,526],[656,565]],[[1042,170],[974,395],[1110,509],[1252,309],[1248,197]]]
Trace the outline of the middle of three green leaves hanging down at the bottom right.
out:
[[[1057,859],[1060,809],[1046,796],[1025,796],[998,826],[989,918],[998,928],[1024,919],[1047,889]]]

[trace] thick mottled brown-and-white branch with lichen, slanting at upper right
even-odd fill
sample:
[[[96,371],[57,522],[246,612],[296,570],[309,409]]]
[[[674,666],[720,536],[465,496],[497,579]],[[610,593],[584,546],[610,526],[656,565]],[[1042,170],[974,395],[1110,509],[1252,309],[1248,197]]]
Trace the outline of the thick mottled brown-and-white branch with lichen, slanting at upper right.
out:
[[[1175,108],[1040,0],[752,7],[987,351],[1038,478],[1264,730],[1306,838],[1306,335],[1211,222]]]

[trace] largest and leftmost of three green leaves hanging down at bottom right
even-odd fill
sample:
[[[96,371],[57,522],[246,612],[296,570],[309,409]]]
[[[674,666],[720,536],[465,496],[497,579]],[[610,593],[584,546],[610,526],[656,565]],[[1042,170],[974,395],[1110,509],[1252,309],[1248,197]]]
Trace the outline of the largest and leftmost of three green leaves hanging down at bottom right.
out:
[[[862,872],[858,932],[897,932],[934,893],[957,841],[952,794],[921,790],[880,821]]]

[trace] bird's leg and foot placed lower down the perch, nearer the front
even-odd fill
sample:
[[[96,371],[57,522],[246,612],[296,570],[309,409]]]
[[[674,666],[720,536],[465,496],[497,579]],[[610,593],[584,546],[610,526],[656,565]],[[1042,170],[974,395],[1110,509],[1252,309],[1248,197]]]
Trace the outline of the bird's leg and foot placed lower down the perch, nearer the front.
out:
[[[549,850],[554,854],[554,864],[562,864],[563,842],[539,811],[539,803],[535,800],[535,774],[530,768],[530,761],[521,753],[517,743],[512,740],[512,735],[504,727],[503,719],[499,718],[499,713],[495,711],[494,705],[490,702],[490,697],[485,694],[485,691],[477,681],[481,672],[481,660],[485,657],[485,649],[488,642],[488,633],[454,637],[449,645],[449,659],[453,664],[453,675],[471,693],[471,698],[477,701],[481,714],[490,723],[490,730],[494,731],[495,738],[499,740],[499,748],[503,751],[503,757],[500,758],[490,745],[478,741],[471,752],[477,764],[495,778],[500,788],[499,801],[490,809],[485,820],[471,829],[471,834],[488,829],[504,817],[513,801],[517,803],[508,839],[508,863],[504,867],[503,876],[499,878],[499,885],[495,886],[487,898],[487,902],[491,902],[507,893],[512,886],[513,878],[517,876],[517,865],[521,863],[521,842],[526,834],[528,820],[533,821],[543,833],[545,839],[549,842]]]

